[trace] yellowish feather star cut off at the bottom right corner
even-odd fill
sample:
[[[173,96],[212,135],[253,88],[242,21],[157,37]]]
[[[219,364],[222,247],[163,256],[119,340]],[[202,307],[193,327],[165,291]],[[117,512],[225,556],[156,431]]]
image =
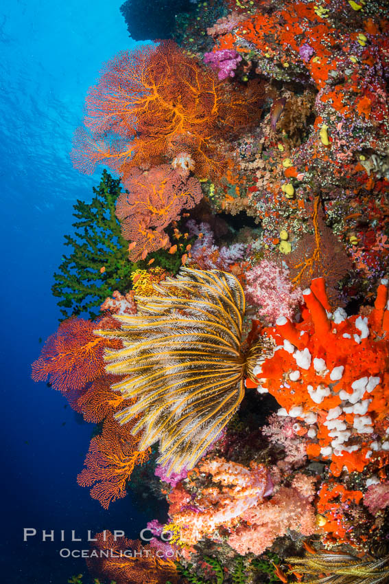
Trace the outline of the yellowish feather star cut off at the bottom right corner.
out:
[[[361,560],[349,554],[312,554],[305,558],[289,558],[294,571],[314,576],[306,584],[387,584],[389,556]],[[322,576],[322,574],[327,574]]]

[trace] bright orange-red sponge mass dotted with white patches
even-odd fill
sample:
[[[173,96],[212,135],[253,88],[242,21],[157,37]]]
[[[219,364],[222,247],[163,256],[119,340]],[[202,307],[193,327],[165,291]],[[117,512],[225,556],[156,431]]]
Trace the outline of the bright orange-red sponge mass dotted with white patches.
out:
[[[388,280],[382,280],[366,317],[347,317],[342,308],[329,314],[321,278],[303,296],[308,312],[302,322],[281,317],[265,330],[276,352],[255,374],[261,391],[268,390],[282,406],[280,416],[309,426],[308,456],[331,459],[334,475],[344,467],[362,472],[372,457],[389,449]]]

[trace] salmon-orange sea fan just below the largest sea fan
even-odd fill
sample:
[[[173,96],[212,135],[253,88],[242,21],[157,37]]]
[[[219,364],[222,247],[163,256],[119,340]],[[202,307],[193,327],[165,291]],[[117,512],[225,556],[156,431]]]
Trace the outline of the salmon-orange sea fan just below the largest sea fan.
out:
[[[117,218],[123,237],[135,243],[130,260],[144,258],[150,251],[171,245],[164,229],[202,199],[199,181],[172,170],[168,164],[142,171],[134,168],[124,181],[127,192],[119,195]]]

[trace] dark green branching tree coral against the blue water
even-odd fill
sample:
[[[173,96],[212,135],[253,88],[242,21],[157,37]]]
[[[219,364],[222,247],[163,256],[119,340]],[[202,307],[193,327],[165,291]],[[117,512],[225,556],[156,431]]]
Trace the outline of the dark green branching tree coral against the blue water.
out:
[[[104,170],[98,188],[93,188],[92,202],[74,205],[75,235],[65,236],[64,244],[71,253],[64,256],[52,287],[54,296],[61,299],[58,306],[64,317],[89,312],[93,318],[113,291],[130,288],[134,264],[128,260],[128,242],[115,215],[119,183]]]

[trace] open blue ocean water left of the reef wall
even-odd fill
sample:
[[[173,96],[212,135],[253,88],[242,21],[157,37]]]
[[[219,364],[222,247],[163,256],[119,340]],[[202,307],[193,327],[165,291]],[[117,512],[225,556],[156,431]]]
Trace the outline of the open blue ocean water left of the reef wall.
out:
[[[123,529],[137,537],[152,519],[130,497],[104,511],[76,482],[91,438],[66,401],[30,379],[30,364],[56,330],[52,275],[71,232],[72,205],[99,181],[71,166],[73,131],[104,61],[134,47],[120,0],[6,0],[0,15],[1,487],[0,581],[66,583],[84,560],[61,559],[71,530]],[[23,528],[37,535],[23,542]],[[42,541],[42,530],[55,540]],[[65,541],[60,540],[60,530]],[[87,581],[86,575],[84,581]]]

